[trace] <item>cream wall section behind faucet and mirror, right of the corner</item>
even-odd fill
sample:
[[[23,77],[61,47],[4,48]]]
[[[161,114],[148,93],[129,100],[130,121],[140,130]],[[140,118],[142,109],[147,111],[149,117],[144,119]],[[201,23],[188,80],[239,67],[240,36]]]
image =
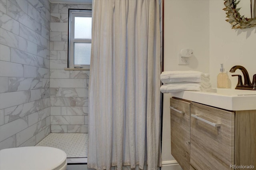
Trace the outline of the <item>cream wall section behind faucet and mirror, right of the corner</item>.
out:
[[[223,1],[224,2],[224,1]],[[231,29],[226,22],[224,4],[220,0],[210,0],[210,75],[213,87],[216,87],[216,77],[220,71],[220,64],[224,64],[225,71],[234,65],[244,66],[252,81],[256,74],[256,27],[244,30]],[[231,77],[232,88],[236,87],[237,77]],[[241,74],[237,70],[235,74]]]

